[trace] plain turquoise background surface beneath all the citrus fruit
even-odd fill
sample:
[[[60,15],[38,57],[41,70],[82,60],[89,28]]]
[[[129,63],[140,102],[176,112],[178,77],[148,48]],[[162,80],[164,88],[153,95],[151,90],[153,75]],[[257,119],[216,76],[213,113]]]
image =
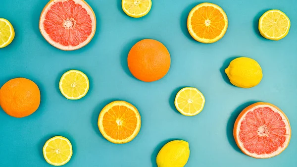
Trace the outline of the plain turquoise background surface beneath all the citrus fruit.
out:
[[[225,36],[214,44],[193,40],[186,20],[199,0],[152,0],[147,16],[127,16],[121,0],[87,0],[97,17],[95,37],[77,51],[52,47],[39,31],[39,17],[48,0],[1,0],[0,17],[15,28],[15,39],[0,49],[0,85],[15,77],[37,83],[41,106],[25,118],[0,111],[0,167],[51,167],[42,147],[55,136],[73,144],[65,167],[156,167],[160,148],[170,140],[190,143],[186,167],[297,167],[297,1],[211,0],[228,15]],[[259,17],[268,9],[281,9],[291,19],[288,36],[280,41],[262,38]],[[171,68],[161,80],[145,83],[127,67],[131,47],[141,39],[162,42],[171,54]],[[231,85],[223,70],[238,56],[248,56],[263,69],[262,82],[251,89]],[[65,99],[58,88],[64,72],[78,69],[90,79],[90,91],[78,101]],[[197,116],[181,115],[174,97],[185,86],[197,87],[205,96]],[[139,135],[117,145],[98,129],[101,109],[114,100],[135,105],[142,116]],[[289,117],[292,139],[279,156],[257,160],[240,152],[233,125],[248,105],[275,104]]]

